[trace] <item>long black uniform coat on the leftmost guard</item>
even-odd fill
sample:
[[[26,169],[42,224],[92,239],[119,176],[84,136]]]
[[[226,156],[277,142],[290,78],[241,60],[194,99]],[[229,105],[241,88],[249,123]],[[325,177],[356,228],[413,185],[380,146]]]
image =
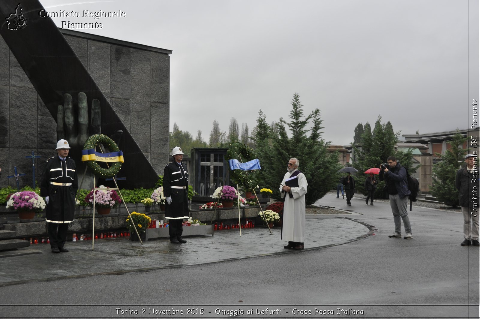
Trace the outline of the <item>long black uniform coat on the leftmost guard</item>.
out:
[[[53,185],[53,183],[72,185]],[[75,161],[69,157],[64,162],[58,156],[47,159],[40,183],[40,196],[48,196],[47,221],[72,222],[75,213],[75,196],[78,178]]]

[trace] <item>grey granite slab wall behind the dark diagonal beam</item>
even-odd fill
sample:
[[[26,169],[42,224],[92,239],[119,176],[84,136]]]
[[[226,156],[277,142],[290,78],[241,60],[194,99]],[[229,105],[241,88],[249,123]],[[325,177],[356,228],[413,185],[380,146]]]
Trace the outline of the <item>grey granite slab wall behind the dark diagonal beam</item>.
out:
[[[159,49],[107,37],[61,29],[76,55],[130,131],[158,174],[169,160],[169,54]],[[74,74],[72,75],[74,76]],[[32,185],[35,151],[36,180],[46,159],[56,154],[56,121],[24,70],[0,37],[0,187]],[[75,159],[80,160],[80,159]]]

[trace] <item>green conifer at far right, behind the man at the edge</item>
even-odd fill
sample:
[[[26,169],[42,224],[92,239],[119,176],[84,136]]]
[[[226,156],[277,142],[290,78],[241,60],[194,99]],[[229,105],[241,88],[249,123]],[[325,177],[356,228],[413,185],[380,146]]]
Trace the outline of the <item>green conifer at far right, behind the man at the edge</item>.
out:
[[[442,161],[432,167],[432,195],[448,206],[458,206],[458,190],[455,187],[456,172],[464,161],[465,150],[462,148],[467,139],[458,130],[447,143],[451,148],[444,155],[435,153]]]

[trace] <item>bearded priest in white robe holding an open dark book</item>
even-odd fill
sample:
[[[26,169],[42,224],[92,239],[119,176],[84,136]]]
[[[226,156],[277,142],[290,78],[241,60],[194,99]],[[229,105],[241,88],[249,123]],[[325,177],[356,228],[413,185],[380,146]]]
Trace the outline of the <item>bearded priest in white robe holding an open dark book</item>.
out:
[[[307,179],[298,170],[299,160],[292,158],[288,161],[288,172],[280,184],[283,206],[282,240],[288,241],[286,249],[303,249],[305,233],[305,194],[307,194]]]

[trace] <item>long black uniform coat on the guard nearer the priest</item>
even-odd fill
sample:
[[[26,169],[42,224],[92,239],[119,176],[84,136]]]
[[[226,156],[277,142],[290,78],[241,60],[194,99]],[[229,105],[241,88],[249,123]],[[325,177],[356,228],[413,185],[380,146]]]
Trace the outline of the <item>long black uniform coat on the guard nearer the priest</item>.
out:
[[[173,186],[173,187],[172,187]],[[169,162],[163,172],[163,196],[172,197],[172,203],[165,203],[166,219],[189,218],[187,165]]]

